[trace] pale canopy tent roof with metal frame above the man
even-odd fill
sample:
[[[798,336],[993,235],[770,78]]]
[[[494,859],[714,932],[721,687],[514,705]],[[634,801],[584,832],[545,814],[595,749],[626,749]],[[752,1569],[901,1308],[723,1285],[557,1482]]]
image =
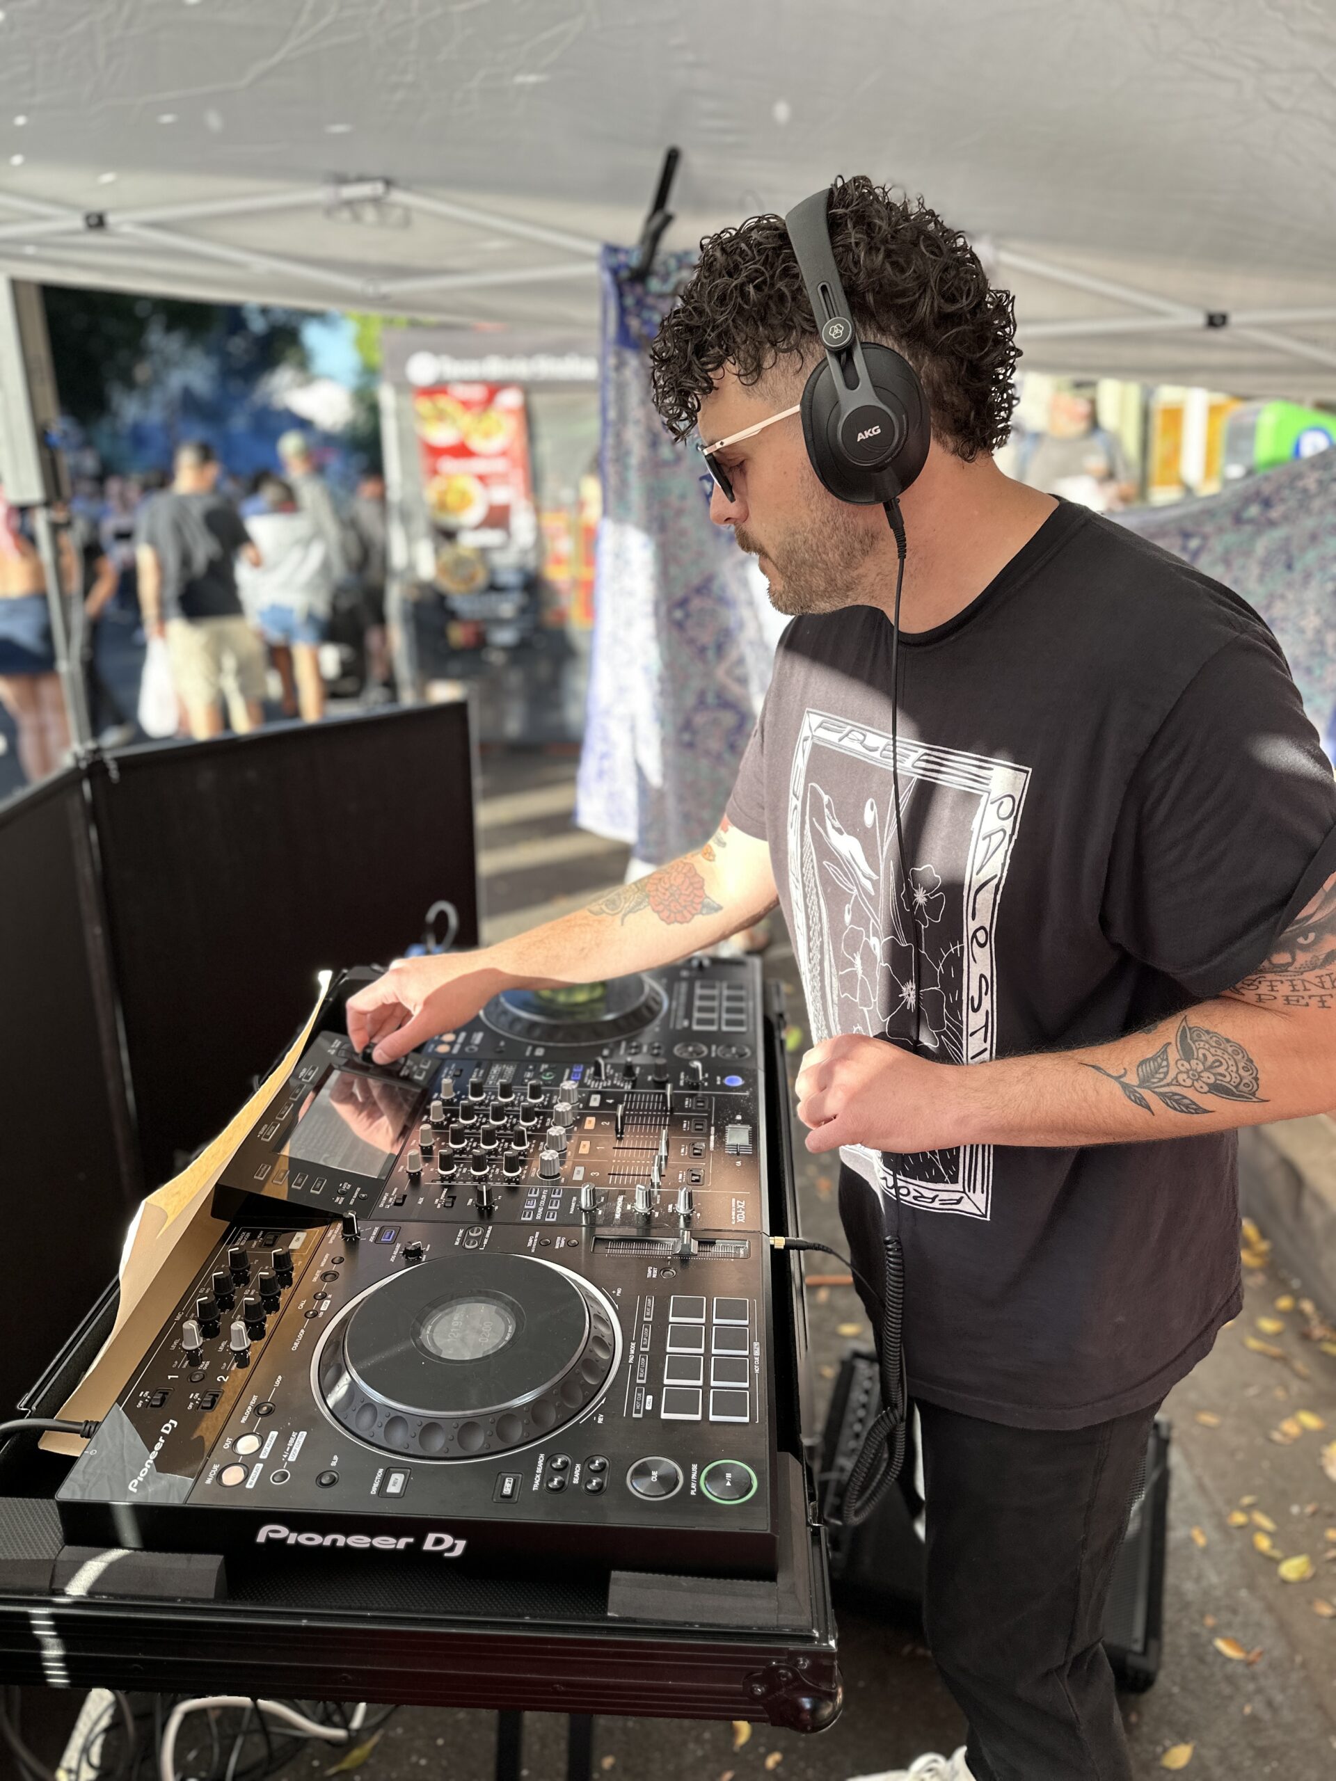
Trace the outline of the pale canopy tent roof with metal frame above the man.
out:
[[[672,246],[868,171],[1028,369],[1336,397],[1334,89],[1311,0],[0,0],[0,272],[591,338],[677,142]]]

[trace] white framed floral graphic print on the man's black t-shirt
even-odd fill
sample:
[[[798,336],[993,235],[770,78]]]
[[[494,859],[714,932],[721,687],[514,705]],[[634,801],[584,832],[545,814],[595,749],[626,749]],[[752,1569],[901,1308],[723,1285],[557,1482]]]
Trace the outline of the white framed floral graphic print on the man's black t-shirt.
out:
[[[996,1053],[994,930],[1030,768],[900,739],[908,883],[900,882],[891,737],[807,711],[793,752],[787,844],[793,946],[812,1038],[912,1031],[942,1063]],[[827,789],[830,787],[830,789]],[[876,1151],[841,1151],[892,1193]],[[896,1159],[903,1204],[987,1218],[992,1145]]]

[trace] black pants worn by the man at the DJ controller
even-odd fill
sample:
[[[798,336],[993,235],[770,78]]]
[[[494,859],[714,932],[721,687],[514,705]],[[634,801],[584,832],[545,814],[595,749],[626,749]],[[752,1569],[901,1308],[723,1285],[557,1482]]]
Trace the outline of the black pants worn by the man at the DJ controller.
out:
[[[925,1619],[976,1781],[1129,1781],[1101,1646],[1154,1409],[1071,1432],[919,1403]]]

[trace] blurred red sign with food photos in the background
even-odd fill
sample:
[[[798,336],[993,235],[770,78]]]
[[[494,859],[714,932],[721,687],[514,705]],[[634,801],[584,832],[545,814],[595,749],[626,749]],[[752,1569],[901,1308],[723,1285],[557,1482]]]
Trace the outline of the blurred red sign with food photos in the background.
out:
[[[415,390],[413,426],[433,525],[467,533],[476,545],[506,543],[517,509],[533,502],[524,390],[513,383]]]

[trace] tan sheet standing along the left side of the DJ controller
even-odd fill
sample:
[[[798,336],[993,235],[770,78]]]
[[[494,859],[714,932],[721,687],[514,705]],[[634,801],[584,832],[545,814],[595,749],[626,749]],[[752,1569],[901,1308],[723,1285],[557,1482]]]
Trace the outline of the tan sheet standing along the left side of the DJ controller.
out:
[[[93,1366],[61,1407],[61,1416],[102,1419],[116,1403],[164,1318],[198,1273],[226,1231],[226,1220],[210,1211],[210,1197],[223,1165],[233,1156],[260,1117],[280,1081],[292,1074],[310,1038],[324,988],[310,1019],[278,1069],[255,1090],[217,1138],[175,1181],[150,1193],[135,1213],[121,1254],[121,1304],[116,1327]],[[46,1434],[41,1446],[52,1453],[82,1453],[78,1435]]]

